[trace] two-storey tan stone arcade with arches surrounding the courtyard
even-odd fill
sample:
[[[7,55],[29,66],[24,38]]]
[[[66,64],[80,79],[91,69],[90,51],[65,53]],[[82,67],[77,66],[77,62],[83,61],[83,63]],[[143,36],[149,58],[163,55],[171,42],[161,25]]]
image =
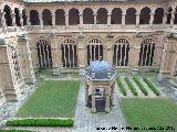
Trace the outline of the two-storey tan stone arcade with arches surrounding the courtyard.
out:
[[[83,69],[103,56],[115,69],[177,74],[176,0],[0,0],[0,105],[34,73]]]

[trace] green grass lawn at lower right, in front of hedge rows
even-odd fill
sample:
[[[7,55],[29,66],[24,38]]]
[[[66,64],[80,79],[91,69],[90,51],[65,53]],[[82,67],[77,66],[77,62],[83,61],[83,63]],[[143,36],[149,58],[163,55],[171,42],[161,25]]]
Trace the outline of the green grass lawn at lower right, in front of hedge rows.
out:
[[[174,127],[176,129],[175,131],[133,132],[177,132],[177,105],[169,99],[123,99],[121,107],[129,127]]]

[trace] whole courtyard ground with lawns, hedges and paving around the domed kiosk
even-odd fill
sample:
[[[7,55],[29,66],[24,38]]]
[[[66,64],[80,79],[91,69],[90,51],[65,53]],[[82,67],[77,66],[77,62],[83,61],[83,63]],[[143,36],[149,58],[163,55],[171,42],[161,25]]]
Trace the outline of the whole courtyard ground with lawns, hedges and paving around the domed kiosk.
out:
[[[83,70],[61,70],[60,76],[53,76],[52,70],[42,69],[35,73],[35,76],[37,86],[27,94],[23,101],[3,106],[7,108],[2,107],[10,116],[7,123],[1,120],[0,131],[177,131],[177,100],[165,90],[167,84],[163,85],[156,80],[158,72],[131,75],[118,70],[110,113],[92,113],[91,109],[85,107]],[[4,111],[1,109],[1,119],[2,112]],[[61,120],[66,122],[60,123]]]

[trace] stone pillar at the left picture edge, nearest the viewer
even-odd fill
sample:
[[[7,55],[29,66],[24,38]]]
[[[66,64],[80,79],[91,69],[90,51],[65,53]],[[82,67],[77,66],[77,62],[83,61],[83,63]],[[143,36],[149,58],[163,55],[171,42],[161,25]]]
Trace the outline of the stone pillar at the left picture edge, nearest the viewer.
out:
[[[17,101],[20,97],[19,88],[13,85],[10,61],[8,57],[8,45],[0,40],[0,88],[4,95],[6,101]],[[2,45],[3,43],[3,45]]]

